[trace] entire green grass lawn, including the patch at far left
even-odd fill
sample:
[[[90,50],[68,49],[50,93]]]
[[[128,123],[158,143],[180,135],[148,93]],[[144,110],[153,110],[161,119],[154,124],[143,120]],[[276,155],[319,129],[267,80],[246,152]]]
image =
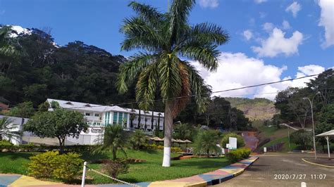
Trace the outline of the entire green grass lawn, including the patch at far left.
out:
[[[161,167],[162,150],[126,150],[126,153],[129,158],[146,160],[146,162],[130,164],[128,173],[118,177],[128,182],[178,179],[210,172],[229,164],[225,158],[192,158],[187,160],[172,160],[172,167]],[[35,154],[38,153],[0,153],[0,173],[27,174],[29,157]],[[178,154],[172,153],[171,156],[176,157]],[[87,162],[108,157],[111,157],[111,154],[90,155],[89,153],[82,153],[82,158]],[[119,153],[118,157],[124,157],[124,155]],[[92,169],[101,169],[101,165],[99,164],[88,164],[88,166]],[[95,174],[94,172],[87,172],[87,176],[93,179],[87,180],[87,183],[113,183],[111,179]]]

